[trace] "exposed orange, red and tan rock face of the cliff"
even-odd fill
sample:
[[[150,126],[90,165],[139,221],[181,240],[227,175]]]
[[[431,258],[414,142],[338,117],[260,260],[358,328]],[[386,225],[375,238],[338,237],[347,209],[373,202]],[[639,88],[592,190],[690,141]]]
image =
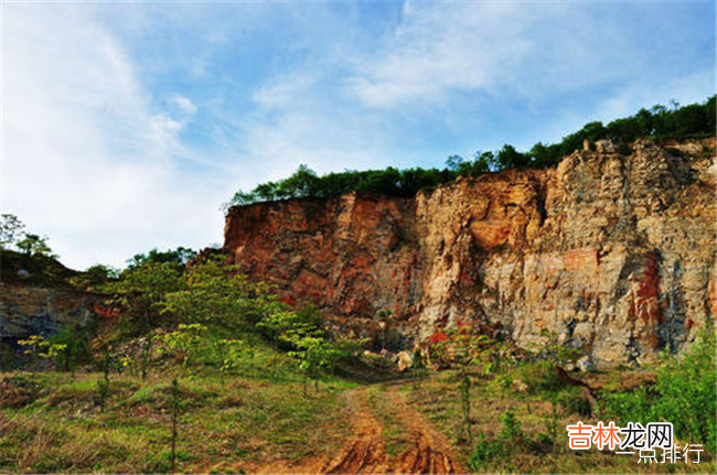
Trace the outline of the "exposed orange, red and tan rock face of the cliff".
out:
[[[225,249],[346,330],[390,311],[405,345],[471,320],[518,345],[547,330],[599,367],[654,360],[717,312],[715,140],[597,149],[411,199],[236,207]]]

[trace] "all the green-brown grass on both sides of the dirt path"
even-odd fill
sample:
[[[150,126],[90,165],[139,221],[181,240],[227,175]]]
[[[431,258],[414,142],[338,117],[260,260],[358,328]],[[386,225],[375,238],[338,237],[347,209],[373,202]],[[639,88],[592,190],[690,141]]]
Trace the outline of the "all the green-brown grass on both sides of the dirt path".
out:
[[[173,377],[182,400],[178,471],[252,472],[275,462],[290,466],[340,453],[351,440],[343,392],[362,382],[327,379],[318,393],[311,390],[304,398],[301,376],[290,361],[274,358],[279,359],[267,356],[264,361],[275,365],[275,371],[225,375],[224,380],[211,367],[165,367],[146,381],[113,374],[105,412],[97,400],[101,374],[78,374],[74,381],[63,373],[0,375],[0,473],[169,472]],[[584,376],[592,387],[608,391],[640,387],[654,377],[649,370]],[[495,378],[474,377],[473,444],[465,438],[456,371],[432,373],[420,381],[409,376],[363,390],[384,428],[389,455],[406,452],[411,440],[394,406],[399,395],[450,439],[464,466],[479,473],[715,472],[714,454],[707,452],[700,464],[645,465],[638,464],[636,455],[570,451],[566,425],[607,420],[580,412],[584,404],[574,402],[579,391],[555,380],[541,364],[512,368]],[[513,417],[506,430],[509,412]]]

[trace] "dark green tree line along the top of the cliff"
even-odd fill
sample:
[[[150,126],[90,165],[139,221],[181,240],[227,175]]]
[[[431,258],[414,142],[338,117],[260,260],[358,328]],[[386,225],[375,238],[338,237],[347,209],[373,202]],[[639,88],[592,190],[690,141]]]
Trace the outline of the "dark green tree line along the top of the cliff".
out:
[[[709,137],[715,133],[715,96],[703,104],[683,107],[673,101],[671,108],[661,105],[649,110],[643,108],[634,116],[613,120],[607,126],[600,121],[589,122],[558,143],[537,142],[526,152],[518,152],[513,145],[505,144],[494,152],[478,151],[473,160],[452,155],[442,170],[397,170],[388,166],[384,170],[345,171],[319,176],[307,165],[301,165],[285,180],[261,183],[250,192],[239,190],[224,208],[287,198],[327,198],[350,192],[409,197],[419,190],[435,188],[458,176],[554,166],[563,156],[582,148],[585,140],[593,142],[609,139],[618,143],[630,143],[639,138],[668,140]]]

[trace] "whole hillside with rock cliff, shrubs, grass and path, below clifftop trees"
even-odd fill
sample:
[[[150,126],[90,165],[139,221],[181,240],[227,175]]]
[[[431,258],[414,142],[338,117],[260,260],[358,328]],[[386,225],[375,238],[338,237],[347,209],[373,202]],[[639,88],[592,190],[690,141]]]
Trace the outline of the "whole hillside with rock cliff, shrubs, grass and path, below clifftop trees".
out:
[[[114,277],[6,251],[0,472],[714,472],[715,161],[597,142],[234,207],[224,249]],[[577,421],[670,421],[699,462],[576,452]]]

